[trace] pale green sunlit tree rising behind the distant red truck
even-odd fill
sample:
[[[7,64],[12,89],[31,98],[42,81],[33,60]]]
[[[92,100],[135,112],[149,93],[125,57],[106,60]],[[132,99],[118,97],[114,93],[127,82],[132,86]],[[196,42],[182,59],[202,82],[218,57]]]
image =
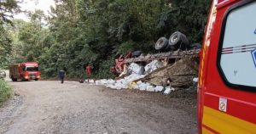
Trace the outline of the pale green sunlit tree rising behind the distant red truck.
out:
[[[44,47],[49,47],[49,30],[42,27],[44,13],[35,10],[29,14],[31,22],[15,20],[14,27],[9,30],[12,33],[14,42],[12,43],[14,60],[18,61],[38,61],[44,52]],[[23,59],[23,60],[20,60]]]

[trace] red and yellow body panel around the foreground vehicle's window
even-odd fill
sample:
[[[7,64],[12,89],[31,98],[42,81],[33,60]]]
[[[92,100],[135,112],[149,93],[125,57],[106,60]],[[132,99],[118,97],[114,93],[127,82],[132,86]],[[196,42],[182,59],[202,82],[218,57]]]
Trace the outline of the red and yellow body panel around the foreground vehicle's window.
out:
[[[210,36],[206,36],[204,42],[205,55],[201,59],[204,67],[201,67],[199,79],[202,133],[256,133],[256,91],[228,87],[218,71],[218,47],[224,16],[230,7],[246,1],[231,2],[226,1],[225,5],[222,3],[217,7],[216,20],[213,27],[208,28]]]

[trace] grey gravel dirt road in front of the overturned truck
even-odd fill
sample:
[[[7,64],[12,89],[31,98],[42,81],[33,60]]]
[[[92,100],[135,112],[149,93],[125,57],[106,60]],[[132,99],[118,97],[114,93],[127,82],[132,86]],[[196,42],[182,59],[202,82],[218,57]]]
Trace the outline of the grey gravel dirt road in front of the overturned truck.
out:
[[[0,108],[0,133],[195,133],[195,92],[115,91],[68,81],[10,82],[15,96]],[[189,92],[189,91],[183,91]],[[185,93],[186,94],[186,93]],[[178,98],[173,98],[178,96]]]

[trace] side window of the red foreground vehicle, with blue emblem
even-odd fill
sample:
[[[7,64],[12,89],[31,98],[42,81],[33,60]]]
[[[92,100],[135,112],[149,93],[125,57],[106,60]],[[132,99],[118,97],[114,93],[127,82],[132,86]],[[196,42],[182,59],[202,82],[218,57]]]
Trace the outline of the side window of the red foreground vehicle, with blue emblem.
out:
[[[256,87],[256,2],[231,8],[224,19],[218,69],[234,87]]]

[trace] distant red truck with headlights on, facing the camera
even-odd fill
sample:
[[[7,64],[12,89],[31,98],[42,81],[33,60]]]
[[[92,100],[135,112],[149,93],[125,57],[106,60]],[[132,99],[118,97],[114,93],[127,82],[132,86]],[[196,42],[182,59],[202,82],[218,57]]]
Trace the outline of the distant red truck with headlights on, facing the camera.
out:
[[[12,81],[28,81],[40,79],[41,72],[38,70],[37,62],[26,62],[21,64],[12,64],[9,68],[9,78]]]

